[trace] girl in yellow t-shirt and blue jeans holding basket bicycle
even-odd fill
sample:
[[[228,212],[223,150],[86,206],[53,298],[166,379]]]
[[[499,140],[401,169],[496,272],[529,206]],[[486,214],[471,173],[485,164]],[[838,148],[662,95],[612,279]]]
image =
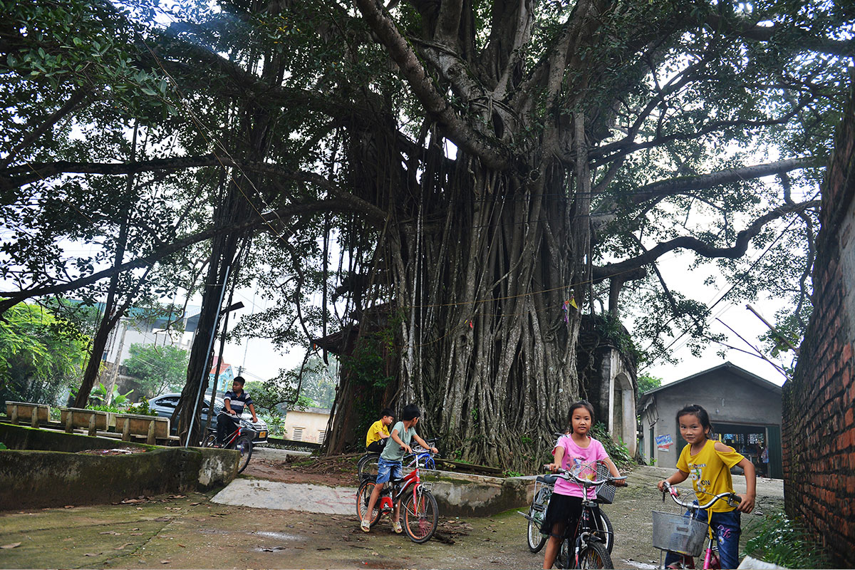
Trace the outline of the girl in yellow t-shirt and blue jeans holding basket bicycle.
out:
[[[757,497],[757,476],[754,472],[754,464],[736,453],[734,448],[710,438],[712,432],[710,414],[707,414],[706,410],[699,405],[692,404],[677,412],[677,425],[680,426],[680,435],[687,444],[681,451],[680,459],[677,460],[677,473],[659,481],[657,485],[659,491],[663,491],[665,481],[670,485],[676,485],[691,476],[698,501],[704,503],[719,493],[734,492],[730,467],[738,465],[745,472],[746,493],[740,495],[742,501],[739,506],[734,508],[726,501],[716,501],[709,508],[709,514],[701,511],[698,517],[700,520],[707,520],[709,517],[710,526],[716,532],[722,568],[739,567],[740,512],[751,513]],[[665,556],[665,566],[673,567],[672,565],[679,560],[680,555],[669,552]]]

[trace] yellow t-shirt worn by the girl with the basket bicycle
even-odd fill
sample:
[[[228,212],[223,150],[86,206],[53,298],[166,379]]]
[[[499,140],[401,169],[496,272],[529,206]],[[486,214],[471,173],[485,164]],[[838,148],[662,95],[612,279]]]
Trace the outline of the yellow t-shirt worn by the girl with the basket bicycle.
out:
[[[677,468],[683,473],[688,473],[692,478],[692,486],[698,502],[704,504],[719,493],[734,492],[734,481],[730,478],[730,467],[734,467],[744,458],[736,453],[732,447],[729,451],[716,451],[716,442],[707,439],[704,449],[698,455],[692,455],[691,444],[686,444],[677,460]],[[727,513],[735,507],[728,505],[727,501],[716,501],[710,507],[716,513]]]

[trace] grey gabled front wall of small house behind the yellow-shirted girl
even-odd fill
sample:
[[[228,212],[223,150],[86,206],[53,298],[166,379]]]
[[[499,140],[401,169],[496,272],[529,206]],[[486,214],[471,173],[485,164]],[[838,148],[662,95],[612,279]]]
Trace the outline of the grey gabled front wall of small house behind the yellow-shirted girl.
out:
[[[644,431],[644,449],[641,455],[648,463],[656,460],[657,467],[676,467],[680,457],[680,428],[675,414],[687,404],[703,406],[710,414],[713,425],[733,423],[748,426],[781,426],[781,395],[754,384],[726,368],[675,384],[654,392],[652,403],[641,413]],[[642,400],[644,406],[645,400]],[[651,425],[652,424],[652,425]],[[674,442],[668,451],[654,445],[650,455],[652,437],[668,434]]]

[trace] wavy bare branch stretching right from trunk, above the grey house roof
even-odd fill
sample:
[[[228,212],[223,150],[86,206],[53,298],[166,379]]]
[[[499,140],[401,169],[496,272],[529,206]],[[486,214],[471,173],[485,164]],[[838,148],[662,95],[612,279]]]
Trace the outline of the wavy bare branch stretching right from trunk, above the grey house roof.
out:
[[[819,204],[819,200],[811,200],[810,202],[784,204],[779,206],[768,214],[764,214],[759,217],[751,226],[748,226],[746,229],[739,232],[736,235],[735,244],[731,247],[715,247],[711,244],[707,244],[703,240],[694,238],[693,236],[682,236],[681,238],[671,239],[663,244],[657,244],[655,247],[647,250],[640,256],[635,256],[617,263],[610,263],[609,265],[602,267],[594,267],[593,282],[599,283],[604,279],[609,279],[620,273],[626,273],[633,271],[634,269],[638,269],[639,267],[644,267],[652,261],[657,260],[660,256],[663,256],[673,250],[693,250],[699,256],[710,258],[727,257],[728,259],[736,259],[745,255],[746,250],[748,249],[748,243],[770,221],[781,218],[787,214],[793,214],[793,212],[801,212],[809,208],[818,208]]]

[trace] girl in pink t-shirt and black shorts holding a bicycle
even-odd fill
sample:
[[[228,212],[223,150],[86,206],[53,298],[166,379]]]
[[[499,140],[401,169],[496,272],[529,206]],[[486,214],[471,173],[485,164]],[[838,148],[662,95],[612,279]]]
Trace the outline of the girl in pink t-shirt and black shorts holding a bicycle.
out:
[[[609,459],[603,444],[588,435],[593,426],[593,406],[585,400],[581,400],[570,406],[570,434],[558,438],[555,449],[552,450],[553,461],[545,465],[550,471],[556,471],[559,467],[570,473],[575,473],[582,479],[594,479],[597,475],[596,461],[604,461],[614,477],[620,477],[621,473],[615,464]],[[621,481],[615,481],[614,485],[626,485]],[[549,534],[549,542],[543,557],[543,567],[546,570],[555,563],[558,547],[564,536],[564,529],[569,525],[573,528],[582,512],[582,489],[581,485],[566,479],[558,479],[555,491],[549,501],[549,508],[540,532]],[[588,498],[593,499],[597,491],[593,487],[588,491]],[[594,508],[595,511],[597,507]],[[594,515],[598,518],[597,512]]]

